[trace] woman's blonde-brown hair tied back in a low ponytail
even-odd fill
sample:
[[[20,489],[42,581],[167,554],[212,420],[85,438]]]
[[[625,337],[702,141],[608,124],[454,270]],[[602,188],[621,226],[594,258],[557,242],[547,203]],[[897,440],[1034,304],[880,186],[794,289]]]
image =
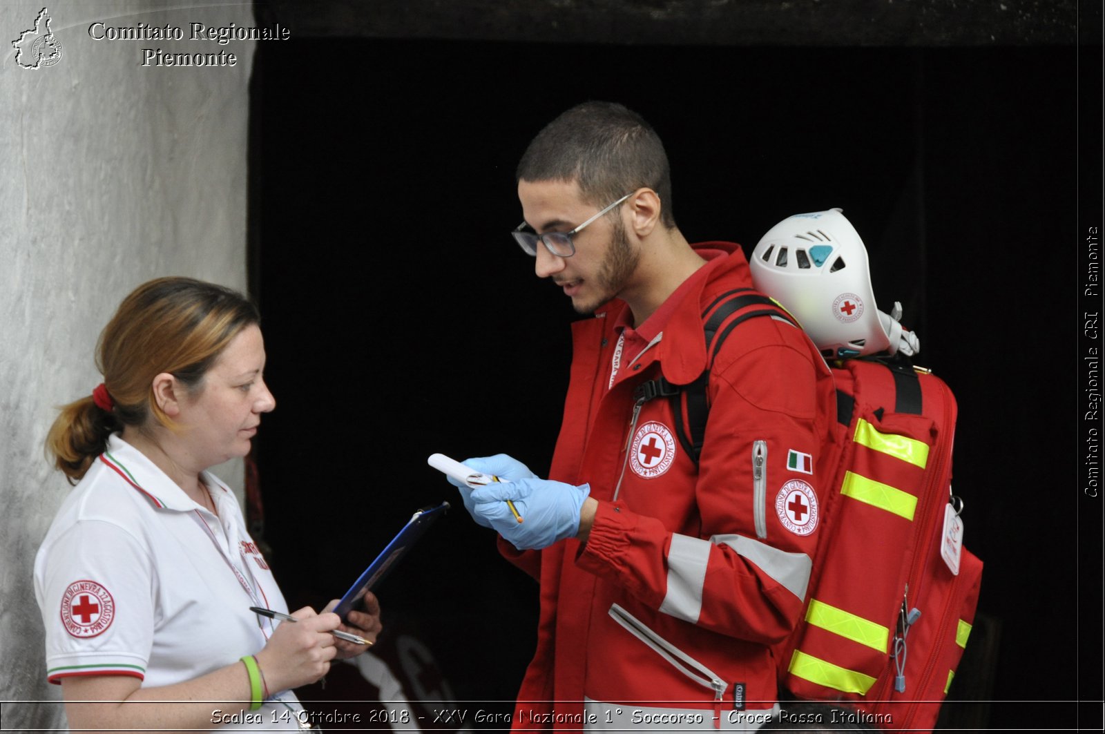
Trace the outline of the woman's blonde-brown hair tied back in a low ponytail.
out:
[[[75,483],[124,426],[152,416],[172,428],[154,399],[154,377],[169,373],[191,392],[227,345],[261,321],[242,294],[190,277],[159,277],[139,285],[119,304],[96,344],[96,367],[114,406],[90,397],[61,408],[46,437],[46,454]]]

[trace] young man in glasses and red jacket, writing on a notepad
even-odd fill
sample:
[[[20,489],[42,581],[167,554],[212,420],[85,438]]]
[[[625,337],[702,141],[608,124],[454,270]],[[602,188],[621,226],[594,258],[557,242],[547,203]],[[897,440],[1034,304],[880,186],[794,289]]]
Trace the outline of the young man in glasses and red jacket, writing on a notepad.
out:
[[[667,157],[617,104],[550,123],[518,166],[514,238],[580,313],[550,479],[499,454],[461,487],[503,554],[540,581],[537,652],[515,727],[756,728],[778,711],[770,647],[801,614],[818,541],[829,370],[781,318],[708,355],[708,317],[750,289],[740,248],[691,245]],[[709,369],[701,457],[677,401],[640,386]],[[519,522],[506,503],[522,516]]]

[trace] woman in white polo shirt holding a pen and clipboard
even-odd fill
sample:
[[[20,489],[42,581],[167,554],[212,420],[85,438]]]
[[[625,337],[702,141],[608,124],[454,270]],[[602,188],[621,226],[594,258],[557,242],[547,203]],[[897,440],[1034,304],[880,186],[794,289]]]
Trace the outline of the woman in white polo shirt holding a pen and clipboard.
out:
[[[207,470],[244,457],[276,405],[257,324],[222,286],[139,286],[101,334],[104,382],[51,429],[48,450],[80,483],[39,549],[35,596],[73,728],[306,728],[291,689],[367,649],[329,631],[376,639],[371,596],[348,627],[309,607],[297,623],[250,611],[287,606]]]

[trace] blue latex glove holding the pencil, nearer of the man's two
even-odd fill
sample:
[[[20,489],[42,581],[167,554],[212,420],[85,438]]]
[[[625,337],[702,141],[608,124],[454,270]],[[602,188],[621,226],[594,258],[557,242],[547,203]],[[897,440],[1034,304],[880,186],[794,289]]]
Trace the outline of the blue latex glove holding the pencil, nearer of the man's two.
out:
[[[519,550],[547,548],[579,533],[579,510],[591,493],[589,484],[572,486],[545,479],[519,479],[472,491],[472,516],[487,521]],[[511,513],[514,502],[524,522]]]

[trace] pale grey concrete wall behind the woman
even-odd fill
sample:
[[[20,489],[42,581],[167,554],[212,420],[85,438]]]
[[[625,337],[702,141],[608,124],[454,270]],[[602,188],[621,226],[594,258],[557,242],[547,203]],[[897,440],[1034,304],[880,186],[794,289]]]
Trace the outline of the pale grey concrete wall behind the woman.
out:
[[[177,3],[173,3],[177,4]],[[255,43],[190,41],[190,23],[253,27],[249,3],[0,3],[0,660],[4,730],[56,726],[34,554],[69,491],[43,458],[54,406],[99,382],[99,329],[134,286],[190,275],[244,290],[249,77]],[[179,27],[185,40],[95,40],[90,25]],[[97,30],[96,34],[101,34]],[[18,42],[20,49],[12,46]],[[143,49],[236,64],[143,66]],[[27,69],[27,65],[38,67]],[[228,61],[224,57],[224,63]],[[241,463],[220,468],[242,485]],[[14,701],[14,703],[13,703]],[[21,703],[22,702],[22,703]]]

